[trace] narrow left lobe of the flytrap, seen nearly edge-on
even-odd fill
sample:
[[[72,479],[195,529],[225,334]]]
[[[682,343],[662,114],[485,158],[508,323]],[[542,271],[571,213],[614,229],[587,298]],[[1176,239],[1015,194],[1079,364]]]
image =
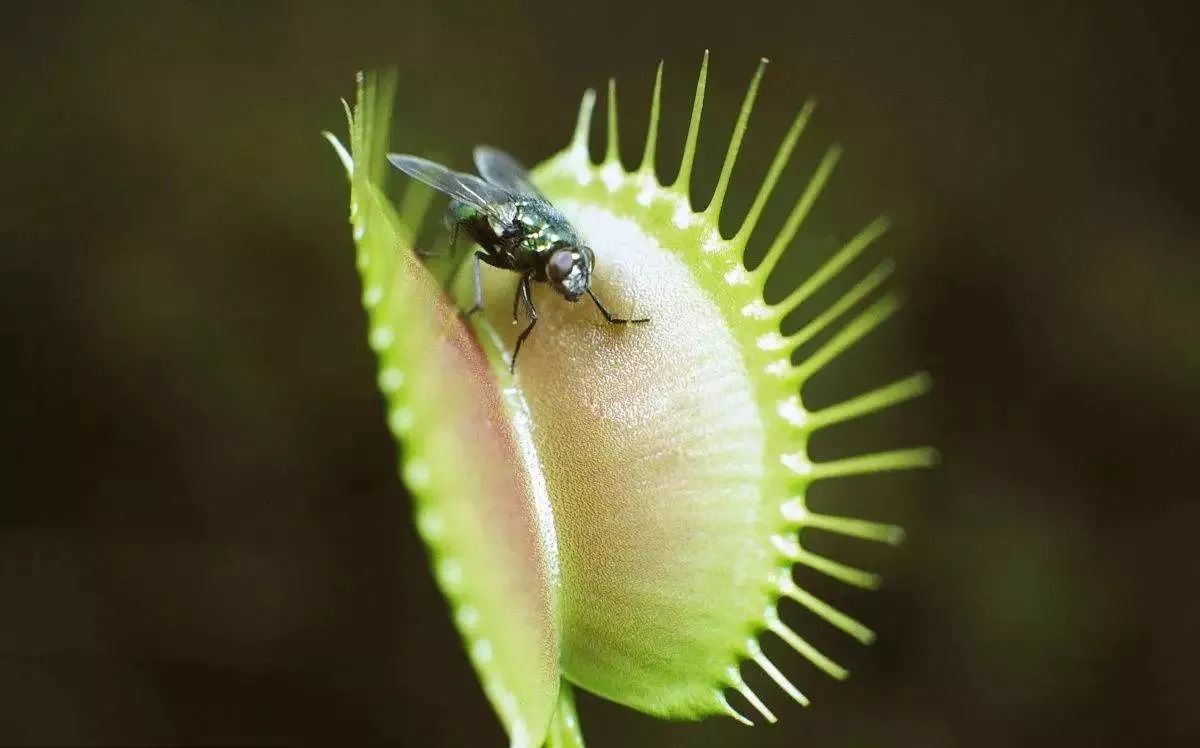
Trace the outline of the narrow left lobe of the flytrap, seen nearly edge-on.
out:
[[[366,78],[350,125],[350,222],[388,423],[434,573],[514,746],[540,746],[559,690],[558,561],[527,406],[413,252],[428,195],[382,192],[394,83]]]

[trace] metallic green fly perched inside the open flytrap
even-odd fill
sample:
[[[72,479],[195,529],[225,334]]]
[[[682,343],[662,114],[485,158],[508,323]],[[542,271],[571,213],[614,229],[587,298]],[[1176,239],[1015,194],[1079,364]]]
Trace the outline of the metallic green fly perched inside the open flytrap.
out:
[[[419,156],[390,154],[388,161],[404,174],[450,196],[446,227],[451,253],[460,232],[466,232],[479,245],[473,258],[475,303],[467,317],[484,304],[480,263],[521,276],[512,299],[512,323],[516,324],[517,310],[524,305],[529,324],[517,336],[511,371],[516,371],[521,345],[538,324],[538,307],[530,293],[534,281],[547,283],[568,301],[578,301],[587,294],[611,324],[649,322],[648,318],[614,317],[596,298],[592,291],[594,252],[512,156],[486,145],[475,148],[475,168],[480,176],[455,172]],[[460,267],[461,263],[455,265],[450,283]]]

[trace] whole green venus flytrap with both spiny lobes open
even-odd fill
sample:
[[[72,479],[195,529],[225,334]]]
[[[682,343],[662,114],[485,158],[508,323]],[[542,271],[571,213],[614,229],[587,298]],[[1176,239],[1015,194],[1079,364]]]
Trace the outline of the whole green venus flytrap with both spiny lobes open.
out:
[[[590,305],[535,286],[541,322],[515,376],[508,364],[520,330],[510,323],[516,276],[485,274],[486,313],[472,322],[472,335],[415,261],[413,235],[428,192],[408,187],[398,217],[383,197],[391,82],[360,83],[349,152],[330,137],[350,173],[368,340],[379,354],[418,526],[514,746],[582,744],[568,683],[650,714],[726,714],[749,724],[727,698],[738,693],[774,722],[743,677],[752,666],[808,704],[763,653],[762,636],[778,636],[833,677],[846,670],[784,621],[780,602],[793,600],[859,641],[874,633],[799,587],[793,566],[868,588],[878,576],[812,552],[806,533],[902,538],[890,525],[814,511],[808,489],[936,457],[928,448],[809,457],[817,430],[929,388],[928,376],[914,375],[840,405],[805,407],[809,379],[898,309],[895,297],[884,295],[842,322],[888,277],[889,263],[796,333],[780,330],[886,222],[870,223],[784,300],[768,304],[767,279],[839,151],[822,158],[764,259],[748,269],[746,244],[812,107],[802,108],[748,215],[725,237],[718,220],[763,66],[703,209],[692,205],[690,176],[707,55],[672,185],[654,169],[661,73],[660,66],[638,168],[626,172],[618,158],[610,83],[604,160],[594,163],[587,148],[589,91],[570,145],[533,173],[595,250],[593,287],[613,313],[652,322],[612,328]],[[454,291],[460,303],[468,299],[468,280]],[[793,363],[802,345],[836,324]]]

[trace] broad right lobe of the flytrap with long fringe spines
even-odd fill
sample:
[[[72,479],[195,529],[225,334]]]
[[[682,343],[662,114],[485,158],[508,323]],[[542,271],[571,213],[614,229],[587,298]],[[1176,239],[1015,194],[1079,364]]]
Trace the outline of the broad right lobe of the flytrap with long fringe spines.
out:
[[[706,61],[707,67],[707,61]],[[805,107],[780,149],[742,229],[721,235],[718,216],[745,132],[758,74],[734,128],[716,195],[704,210],[689,196],[704,71],[676,185],[660,184],[654,163],[656,84],[643,166],[626,172],[617,157],[614,86],[610,85],[608,148],[593,163],[587,150],[590,92],[572,144],[535,170],[545,192],[595,250],[593,287],[614,315],[650,317],[644,325],[605,322],[587,303],[571,304],[535,286],[540,322],[521,352],[517,378],[529,401],[534,437],[554,508],[563,572],[563,670],[582,688],[638,710],[674,718],[725,713],[738,719],[727,690],[739,692],[767,719],[774,716],[743,680],[755,663],[793,699],[800,692],[762,652],[778,635],[834,677],[846,671],[784,623],[779,603],[793,599],[848,634],[870,641],[863,624],[792,580],[796,563],[852,585],[877,576],[808,551],[797,531],[811,527],[894,543],[899,528],[809,510],[815,480],[929,465],[928,449],[809,460],[823,425],[868,414],[917,395],[917,376],[822,412],[804,407],[804,383],[883,322],[892,297],[858,312],[809,358],[803,342],[854,310],[887,276],[881,265],[791,336],[781,319],[882,234],[882,221],[852,239],[778,305],[762,289],[836,161],[833,149],[755,270],[746,240],[804,127]],[[488,273],[485,328],[504,330],[505,351],[516,276]],[[467,292],[463,283],[460,293]]]

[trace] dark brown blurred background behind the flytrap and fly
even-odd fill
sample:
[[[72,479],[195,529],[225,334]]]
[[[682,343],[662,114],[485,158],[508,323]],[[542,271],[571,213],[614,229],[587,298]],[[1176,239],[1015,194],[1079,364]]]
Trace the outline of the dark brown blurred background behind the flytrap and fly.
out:
[[[535,162],[613,74],[632,161],[665,59],[671,174],[706,47],[701,193],[773,60],[731,215],[805,97],[780,193],[846,146],[773,293],[896,221],[876,257],[908,306],[811,394],[918,366],[937,389],[815,449],[929,439],[944,465],[822,489],[910,529],[838,543],[878,593],[805,578],[881,633],[804,622],[850,681],[782,656],[815,705],[769,693],[784,722],[755,730],[584,696],[592,744],[1196,744],[1200,24],[908,5],[7,7],[0,744],[503,744],[396,478],[318,131],[397,66],[404,150]]]

